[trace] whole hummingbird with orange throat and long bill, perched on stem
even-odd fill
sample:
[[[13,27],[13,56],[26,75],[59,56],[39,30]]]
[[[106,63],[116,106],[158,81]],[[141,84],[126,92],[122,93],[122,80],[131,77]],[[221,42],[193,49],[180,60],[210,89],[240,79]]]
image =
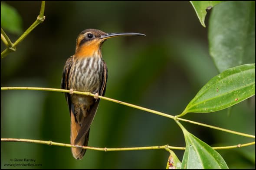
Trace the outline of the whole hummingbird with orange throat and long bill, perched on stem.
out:
[[[99,104],[98,95],[105,95],[108,69],[102,59],[103,42],[108,38],[129,35],[144,34],[105,33],[97,29],[85,29],[78,35],[75,54],[67,59],[61,80],[61,88],[70,90],[70,93],[65,93],[65,98],[71,117],[72,145],[88,145],[90,127]],[[95,97],[73,94],[73,90],[91,92]],[[81,160],[86,149],[71,148],[71,151],[75,159]]]

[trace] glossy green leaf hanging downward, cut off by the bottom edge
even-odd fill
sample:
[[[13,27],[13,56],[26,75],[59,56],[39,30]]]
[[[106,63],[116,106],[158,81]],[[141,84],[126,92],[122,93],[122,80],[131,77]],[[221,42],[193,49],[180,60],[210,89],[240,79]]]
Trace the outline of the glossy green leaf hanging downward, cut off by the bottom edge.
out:
[[[178,121],[186,141],[181,169],[228,169],[223,157],[209,145],[188,132]]]

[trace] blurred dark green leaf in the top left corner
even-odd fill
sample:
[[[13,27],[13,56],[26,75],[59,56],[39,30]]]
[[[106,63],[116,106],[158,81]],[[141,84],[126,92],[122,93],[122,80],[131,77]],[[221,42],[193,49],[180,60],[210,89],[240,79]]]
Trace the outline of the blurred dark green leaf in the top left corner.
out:
[[[22,19],[15,8],[1,2],[1,27],[13,34],[22,33]]]

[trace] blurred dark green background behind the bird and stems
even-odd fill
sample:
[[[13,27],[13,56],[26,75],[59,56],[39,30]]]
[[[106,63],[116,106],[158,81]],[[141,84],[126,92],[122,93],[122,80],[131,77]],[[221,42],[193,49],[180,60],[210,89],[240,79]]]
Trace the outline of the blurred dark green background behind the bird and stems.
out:
[[[22,18],[23,31],[39,14],[40,2],[5,2]],[[62,69],[75,51],[77,35],[86,28],[105,32],[138,32],[146,37],[106,41],[102,55],[108,66],[106,97],[171,115],[181,113],[197,91],[218,74],[209,55],[207,28],[187,2],[69,1],[46,2],[46,20],[15,53],[1,60],[1,87],[60,88]],[[206,25],[208,25],[208,17]],[[7,35],[14,42],[19,36]],[[5,49],[1,42],[1,51]],[[255,97],[227,110],[189,113],[186,119],[255,135]],[[188,131],[211,146],[237,145],[253,139],[190,123]],[[69,143],[70,117],[64,94],[49,91],[1,91],[1,138]],[[185,146],[177,124],[141,110],[102,100],[91,127],[89,146],[121,148]],[[255,146],[218,151],[230,168],[255,168]],[[182,160],[184,151],[175,151]],[[87,150],[77,161],[70,148],[1,142],[1,168],[166,167],[165,150]],[[6,167],[10,159],[36,159],[40,167]]]

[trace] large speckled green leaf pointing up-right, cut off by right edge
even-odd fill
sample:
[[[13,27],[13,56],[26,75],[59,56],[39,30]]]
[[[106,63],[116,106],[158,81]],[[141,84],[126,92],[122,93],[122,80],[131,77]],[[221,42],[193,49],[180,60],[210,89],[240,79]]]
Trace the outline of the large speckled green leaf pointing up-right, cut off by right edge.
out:
[[[255,63],[236,66],[210,79],[190,101],[188,112],[206,113],[233,106],[255,95]]]

